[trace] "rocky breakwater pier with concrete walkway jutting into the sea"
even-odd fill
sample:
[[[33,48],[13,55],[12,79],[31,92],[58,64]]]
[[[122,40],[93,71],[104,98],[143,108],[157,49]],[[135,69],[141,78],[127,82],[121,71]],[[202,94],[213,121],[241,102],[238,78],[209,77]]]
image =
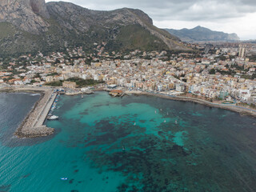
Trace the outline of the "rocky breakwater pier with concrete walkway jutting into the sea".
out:
[[[54,134],[53,128],[42,125],[56,96],[56,94],[54,96],[52,94],[51,90],[41,91],[39,101],[35,103],[30,113],[27,114],[14,133],[18,138],[37,138]]]

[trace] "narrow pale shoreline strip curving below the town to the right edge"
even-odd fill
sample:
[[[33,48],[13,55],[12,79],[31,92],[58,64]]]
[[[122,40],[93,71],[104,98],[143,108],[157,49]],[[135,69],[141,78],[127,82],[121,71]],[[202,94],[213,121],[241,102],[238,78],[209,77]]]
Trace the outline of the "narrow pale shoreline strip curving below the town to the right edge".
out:
[[[256,110],[251,110],[249,108],[242,107],[242,106],[228,106],[229,104],[218,104],[218,103],[214,103],[214,102],[208,102],[208,101],[205,101],[200,98],[189,98],[189,97],[183,97],[183,96],[168,96],[168,95],[162,95],[162,94],[152,94],[152,93],[142,92],[142,91],[126,91],[126,94],[147,95],[147,96],[166,98],[166,99],[181,101],[181,102],[195,102],[198,104],[202,104],[204,106],[220,108],[223,110],[231,110],[240,115],[250,115],[250,116],[253,116],[254,118],[256,118]]]

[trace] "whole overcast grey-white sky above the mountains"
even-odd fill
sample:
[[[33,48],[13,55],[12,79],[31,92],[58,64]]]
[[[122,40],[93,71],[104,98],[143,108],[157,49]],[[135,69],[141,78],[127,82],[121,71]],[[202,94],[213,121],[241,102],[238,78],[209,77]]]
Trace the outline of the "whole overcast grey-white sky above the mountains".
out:
[[[205,26],[256,39],[256,0],[62,0],[91,10],[140,9],[160,28]],[[53,0],[46,2],[53,2]],[[58,1],[55,1],[58,2]]]

